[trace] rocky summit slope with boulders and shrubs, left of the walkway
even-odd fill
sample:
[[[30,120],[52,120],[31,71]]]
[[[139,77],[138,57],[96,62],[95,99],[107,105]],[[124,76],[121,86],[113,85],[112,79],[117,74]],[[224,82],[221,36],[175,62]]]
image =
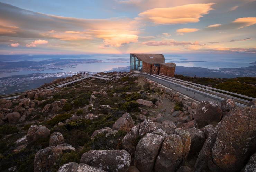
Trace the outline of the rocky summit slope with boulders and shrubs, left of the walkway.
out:
[[[256,101],[198,102],[128,76],[29,90],[0,99],[0,171],[255,172]]]

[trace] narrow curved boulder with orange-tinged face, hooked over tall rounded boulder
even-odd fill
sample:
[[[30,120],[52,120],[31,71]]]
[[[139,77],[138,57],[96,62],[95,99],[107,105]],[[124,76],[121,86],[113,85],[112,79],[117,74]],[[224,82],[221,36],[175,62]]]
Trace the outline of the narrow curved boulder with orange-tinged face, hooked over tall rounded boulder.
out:
[[[183,129],[175,129],[174,134],[179,135],[181,137],[183,143],[182,159],[184,160],[187,158],[190,151],[191,136],[188,131]]]

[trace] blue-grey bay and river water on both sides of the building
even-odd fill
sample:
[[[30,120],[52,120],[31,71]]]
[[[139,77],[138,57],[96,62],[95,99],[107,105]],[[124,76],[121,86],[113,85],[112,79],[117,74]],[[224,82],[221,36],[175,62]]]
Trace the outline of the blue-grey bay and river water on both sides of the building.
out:
[[[164,54],[165,55],[165,54]],[[60,57],[68,58],[68,57]],[[83,63],[73,68],[62,68],[63,70],[44,70],[44,71],[19,71],[10,73],[0,73],[0,78],[13,75],[23,75],[32,73],[58,73],[58,72],[79,72],[91,71],[102,72],[111,70],[116,67],[125,67],[130,65],[130,56],[127,55],[94,55],[92,57],[79,57],[82,59],[104,60],[102,63]],[[47,60],[47,58],[31,58],[31,60]],[[116,60],[114,60],[116,59]],[[186,67],[203,67],[208,69],[219,68],[239,68],[247,67],[256,61],[255,54],[182,54],[182,55],[165,55],[165,62],[176,63],[177,66]]]

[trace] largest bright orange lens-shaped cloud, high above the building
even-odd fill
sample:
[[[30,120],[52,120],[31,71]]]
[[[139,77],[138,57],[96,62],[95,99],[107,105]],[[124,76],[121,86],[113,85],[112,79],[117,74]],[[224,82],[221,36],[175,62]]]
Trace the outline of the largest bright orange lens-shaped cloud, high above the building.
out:
[[[196,23],[203,14],[213,10],[214,3],[188,4],[183,6],[154,8],[139,14],[136,19],[148,20],[155,24]]]

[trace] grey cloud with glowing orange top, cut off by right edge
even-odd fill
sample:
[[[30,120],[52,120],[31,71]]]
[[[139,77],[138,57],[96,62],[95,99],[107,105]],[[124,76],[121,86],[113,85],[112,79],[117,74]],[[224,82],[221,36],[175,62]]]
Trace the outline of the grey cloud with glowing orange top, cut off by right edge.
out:
[[[228,24],[212,24],[204,28],[205,30],[226,30],[226,29],[241,29],[256,24],[256,17],[238,18]]]

